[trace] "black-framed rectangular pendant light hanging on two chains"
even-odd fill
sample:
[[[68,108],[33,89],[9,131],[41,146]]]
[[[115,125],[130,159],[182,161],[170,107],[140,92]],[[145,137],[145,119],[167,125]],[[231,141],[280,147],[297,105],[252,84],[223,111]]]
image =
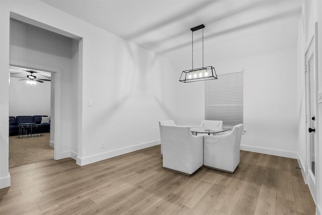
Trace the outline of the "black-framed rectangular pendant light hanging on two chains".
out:
[[[189,82],[199,82],[205,80],[217,79],[217,74],[213,66],[203,66],[203,29],[204,25],[199,25],[197,27],[191,28],[192,31],[192,69],[182,71],[179,82],[189,83]],[[202,29],[202,67],[193,68],[193,32]]]

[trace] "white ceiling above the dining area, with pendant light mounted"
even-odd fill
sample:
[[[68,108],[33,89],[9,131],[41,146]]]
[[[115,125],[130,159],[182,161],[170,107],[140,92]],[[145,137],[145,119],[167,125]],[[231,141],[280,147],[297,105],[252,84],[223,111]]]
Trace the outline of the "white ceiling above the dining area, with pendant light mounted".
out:
[[[302,6],[302,0],[41,1],[163,55],[181,70],[191,66],[190,28],[201,24],[205,65],[296,47]],[[196,64],[201,35],[194,32]]]

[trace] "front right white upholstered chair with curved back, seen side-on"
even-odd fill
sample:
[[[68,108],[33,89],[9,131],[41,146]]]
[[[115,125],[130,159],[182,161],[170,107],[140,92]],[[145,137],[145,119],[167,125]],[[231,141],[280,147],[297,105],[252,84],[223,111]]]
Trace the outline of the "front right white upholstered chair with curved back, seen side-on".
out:
[[[227,134],[204,136],[205,167],[233,173],[239,164],[241,134],[244,125],[238,124]]]

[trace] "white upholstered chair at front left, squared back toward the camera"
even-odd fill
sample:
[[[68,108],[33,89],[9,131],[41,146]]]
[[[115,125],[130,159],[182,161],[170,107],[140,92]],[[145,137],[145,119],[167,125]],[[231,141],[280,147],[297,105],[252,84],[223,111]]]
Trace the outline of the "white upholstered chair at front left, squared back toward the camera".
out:
[[[203,165],[203,136],[188,126],[160,125],[163,167],[191,175]]]

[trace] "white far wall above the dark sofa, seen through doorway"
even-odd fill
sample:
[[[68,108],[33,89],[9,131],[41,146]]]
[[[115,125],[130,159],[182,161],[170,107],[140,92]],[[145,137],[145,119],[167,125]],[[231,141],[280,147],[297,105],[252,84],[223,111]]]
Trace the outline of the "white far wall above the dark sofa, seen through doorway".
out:
[[[19,79],[10,78],[9,115],[50,116],[50,82],[31,86]]]

